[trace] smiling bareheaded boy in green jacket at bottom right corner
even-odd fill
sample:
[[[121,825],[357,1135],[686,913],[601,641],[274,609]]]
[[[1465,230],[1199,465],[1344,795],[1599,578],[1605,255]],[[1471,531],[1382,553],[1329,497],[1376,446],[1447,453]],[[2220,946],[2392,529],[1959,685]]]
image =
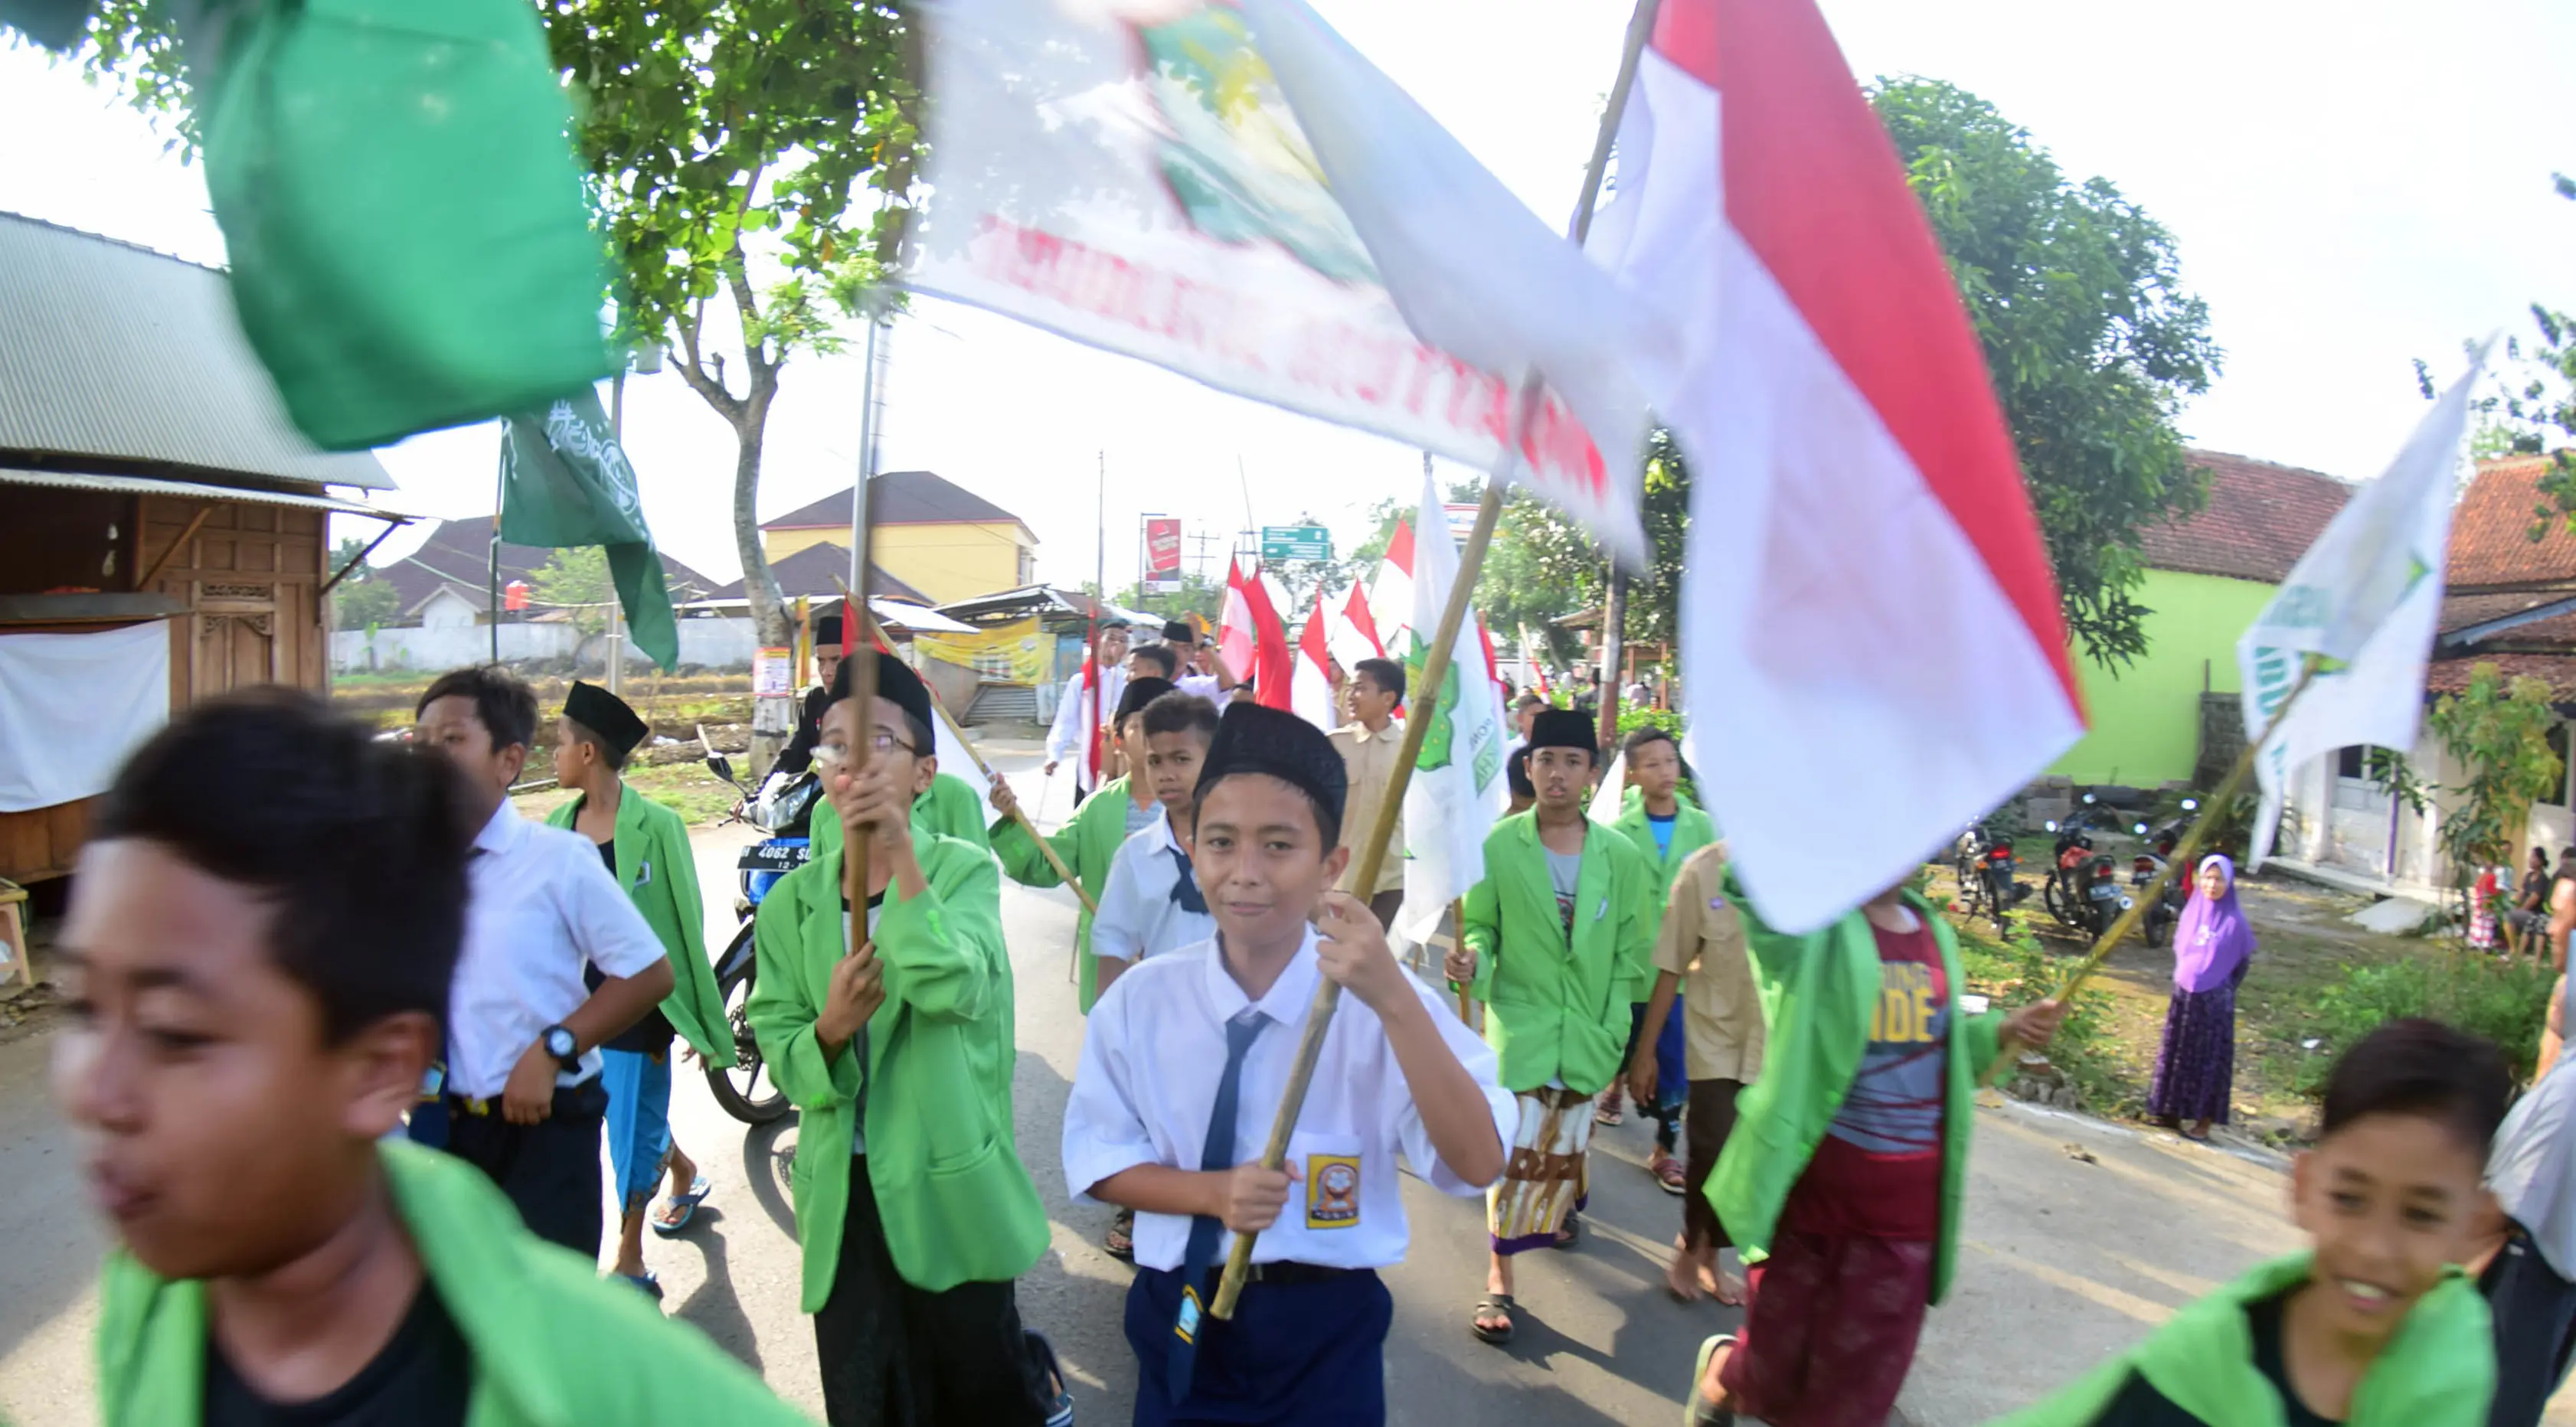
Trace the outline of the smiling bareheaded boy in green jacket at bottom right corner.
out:
[[[2460,1275],[2512,1074],[2476,1035],[2391,1020],[2326,1077],[2290,1169],[2306,1252],[2257,1265],[2002,1427],[2483,1427],[2486,1298]]]

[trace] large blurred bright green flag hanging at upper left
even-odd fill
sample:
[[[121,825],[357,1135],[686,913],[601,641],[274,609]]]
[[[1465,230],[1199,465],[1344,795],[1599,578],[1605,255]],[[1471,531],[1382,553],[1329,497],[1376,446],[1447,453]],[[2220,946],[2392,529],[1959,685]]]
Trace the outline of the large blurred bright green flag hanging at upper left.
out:
[[[240,0],[188,33],[232,304],[325,451],[608,376],[572,106],[526,0]]]

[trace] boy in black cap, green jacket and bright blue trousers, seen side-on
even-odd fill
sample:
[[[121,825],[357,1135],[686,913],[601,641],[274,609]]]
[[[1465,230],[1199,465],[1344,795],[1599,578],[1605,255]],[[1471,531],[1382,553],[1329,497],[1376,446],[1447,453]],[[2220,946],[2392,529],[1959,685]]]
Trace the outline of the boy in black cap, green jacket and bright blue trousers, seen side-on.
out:
[[[706,961],[706,907],[698,902],[688,824],[623,778],[626,757],[649,734],[652,726],[623,698],[574,680],[554,729],[554,780],[572,791],[572,801],[546,822],[580,832],[600,850],[600,863],[670,956],[672,981],[662,1005],[600,1043],[608,1164],[621,1213],[611,1272],[659,1298],[662,1280],[644,1267],[644,1205],[670,1169],[670,1198],[652,1221],[654,1234],[667,1239],[688,1229],[708,1193],[698,1162],[670,1133],[670,1043],[683,1038],[708,1061],[726,1064],[734,1028],[724,1020],[716,969]]]

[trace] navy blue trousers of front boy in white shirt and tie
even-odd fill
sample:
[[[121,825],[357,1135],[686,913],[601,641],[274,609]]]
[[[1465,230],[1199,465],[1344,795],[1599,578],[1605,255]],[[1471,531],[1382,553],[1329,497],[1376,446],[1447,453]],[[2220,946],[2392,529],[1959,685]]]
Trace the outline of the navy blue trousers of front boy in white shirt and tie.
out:
[[[1141,1368],[1136,1427],[1386,1422],[1386,1329],[1396,1301],[1376,1272],[1244,1285],[1231,1321],[1200,1319],[1190,1396],[1164,1391],[1180,1272],[1141,1267],[1128,1285],[1128,1345]]]

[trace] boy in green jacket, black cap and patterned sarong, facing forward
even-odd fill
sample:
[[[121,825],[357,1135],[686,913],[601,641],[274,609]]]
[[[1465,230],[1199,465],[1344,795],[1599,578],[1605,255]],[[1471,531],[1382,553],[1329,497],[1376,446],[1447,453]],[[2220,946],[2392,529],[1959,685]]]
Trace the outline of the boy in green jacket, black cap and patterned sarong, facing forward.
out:
[[[1486,1002],[1484,1038],[1520,1100],[1510,1167],[1486,1193],[1486,1296],[1471,1329],[1512,1339],[1512,1254],[1574,1242],[1592,1144],[1592,1097],[1620,1072],[1654,953],[1646,858],[1584,817],[1592,719],[1546,708],[1530,729],[1538,806],[1494,824],[1484,881],[1466,894],[1453,981]]]

